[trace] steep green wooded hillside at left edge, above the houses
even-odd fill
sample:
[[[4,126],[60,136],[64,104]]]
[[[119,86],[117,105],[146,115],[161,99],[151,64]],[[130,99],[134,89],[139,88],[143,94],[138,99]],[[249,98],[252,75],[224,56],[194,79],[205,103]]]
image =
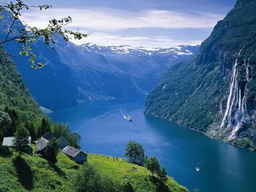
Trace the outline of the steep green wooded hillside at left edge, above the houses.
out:
[[[43,114],[24,85],[15,63],[8,55],[0,54],[0,112],[5,107],[16,110],[24,122]]]

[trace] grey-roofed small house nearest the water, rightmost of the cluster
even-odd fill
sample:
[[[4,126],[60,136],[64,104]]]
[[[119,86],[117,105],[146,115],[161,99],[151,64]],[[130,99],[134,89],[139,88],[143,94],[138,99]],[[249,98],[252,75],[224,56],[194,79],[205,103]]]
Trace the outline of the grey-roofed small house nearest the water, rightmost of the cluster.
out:
[[[62,152],[78,164],[82,164],[83,162],[87,161],[87,154],[73,146],[66,146]]]

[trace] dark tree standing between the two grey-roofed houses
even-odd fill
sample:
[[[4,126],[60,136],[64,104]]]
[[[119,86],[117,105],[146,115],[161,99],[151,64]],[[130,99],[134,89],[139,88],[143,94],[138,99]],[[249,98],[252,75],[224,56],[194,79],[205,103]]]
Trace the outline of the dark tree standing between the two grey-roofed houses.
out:
[[[60,151],[60,143],[55,139],[50,139],[46,146],[45,158],[55,164],[57,162],[58,151]]]

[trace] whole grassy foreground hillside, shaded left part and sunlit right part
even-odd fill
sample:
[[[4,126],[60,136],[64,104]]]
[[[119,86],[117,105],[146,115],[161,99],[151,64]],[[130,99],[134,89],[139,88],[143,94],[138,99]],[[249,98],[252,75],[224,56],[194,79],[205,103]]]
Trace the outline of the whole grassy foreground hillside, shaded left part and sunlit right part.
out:
[[[35,146],[33,146],[34,148]],[[14,151],[11,150],[11,153]],[[92,164],[102,176],[111,176],[114,185],[122,186],[129,181],[134,191],[156,191],[156,184],[149,179],[149,171],[144,167],[129,164],[126,160],[119,162],[107,156],[89,154]],[[79,165],[62,153],[58,154],[58,163],[50,164],[38,154],[24,155],[17,160],[16,154],[5,154],[0,149],[0,191],[74,191],[73,176]],[[169,191],[188,191],[172,178],[164,183]]]

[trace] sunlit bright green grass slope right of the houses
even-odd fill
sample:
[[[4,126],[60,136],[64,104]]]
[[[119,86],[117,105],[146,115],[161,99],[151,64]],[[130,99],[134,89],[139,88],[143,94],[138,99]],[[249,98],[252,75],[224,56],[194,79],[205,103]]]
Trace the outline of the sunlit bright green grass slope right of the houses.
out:
[[[151,179],[150,172],[143,166],[130,164],[125,159],[113,158],[112,156],[102,156],[98,154],[90,154],[88,162],[95,166],[96,169],[104,176],[110,176],[114,182],[122,185],[129,181],[134,191],[157,191],[157,184]],[[173,178],[161,183],[164,191],[188,191],[185,187],[179,185]]]

